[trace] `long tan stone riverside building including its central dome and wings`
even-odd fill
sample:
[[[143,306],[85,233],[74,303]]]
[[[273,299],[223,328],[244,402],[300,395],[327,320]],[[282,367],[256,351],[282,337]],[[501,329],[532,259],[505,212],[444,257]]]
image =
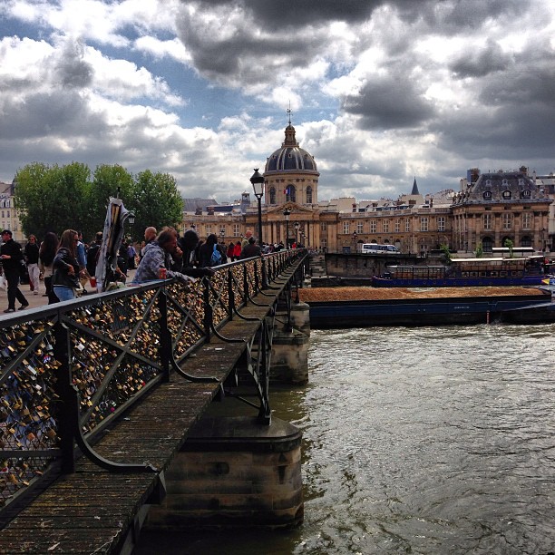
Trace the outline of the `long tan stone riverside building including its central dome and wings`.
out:
[[[355,252],[360,243],[393,244],[401,251],[425,254],[448,245],[472,252],[502,247],[553,250],[555,180],[529,175],[526,168],[480,174],[471,170],[460,190],[421,195],[414,179],[410,194],[397,200],[318,200],[315,158],[300,148],[291,122],[285,141],[267,159],[262,200],[262,238],[268,243],[300,242],[328,252]],[[216,233],[229,243],[247,229],[258,235],[258,208],[243,193],[241,205],[212,206],[186,214],[184,226],[200,237]],[[285,213],[289,212],[288,222]]]

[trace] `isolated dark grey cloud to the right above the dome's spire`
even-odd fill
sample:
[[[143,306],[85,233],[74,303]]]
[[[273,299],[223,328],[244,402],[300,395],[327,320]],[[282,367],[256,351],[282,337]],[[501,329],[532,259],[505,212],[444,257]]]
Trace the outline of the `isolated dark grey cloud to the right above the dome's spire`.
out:
[[[410,83],[388,78],[369,81],[356,95],[343,101],[343,110],[361,116],[364,130],[410,128],[433,116],[433,108]]]

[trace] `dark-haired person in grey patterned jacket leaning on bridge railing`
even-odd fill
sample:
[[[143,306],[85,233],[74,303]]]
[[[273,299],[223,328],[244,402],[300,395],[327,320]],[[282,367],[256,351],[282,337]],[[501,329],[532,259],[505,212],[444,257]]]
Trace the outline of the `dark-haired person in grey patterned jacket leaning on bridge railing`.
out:
[[[144,248],[144,254],[131,281],[131,285],[139,285],[146,281],[161,279],[161,270],[167,278],[176,277],[180,281],[195,281],[179,271],[182,267],[183,252],[178,246],[178,232],[173,228],[164,228],[156,239]]]

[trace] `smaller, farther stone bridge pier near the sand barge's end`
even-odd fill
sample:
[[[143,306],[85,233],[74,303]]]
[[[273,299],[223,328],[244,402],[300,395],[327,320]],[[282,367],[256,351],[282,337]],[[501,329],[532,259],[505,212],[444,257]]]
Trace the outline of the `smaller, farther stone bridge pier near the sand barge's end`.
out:
[[[272,342],[270,380],[301,385],[308,381],[308,340],[310,307],[291,303],[291,329],[287,329],[287,311],[278,308]]]

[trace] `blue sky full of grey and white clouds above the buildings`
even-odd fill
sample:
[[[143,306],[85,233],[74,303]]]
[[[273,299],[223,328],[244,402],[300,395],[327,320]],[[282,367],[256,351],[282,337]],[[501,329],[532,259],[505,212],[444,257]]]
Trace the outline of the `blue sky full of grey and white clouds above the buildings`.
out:
[[[0,0],[0,180],[121,164],[228,202],[284,140],[319,200],[555,170],[553,0]]]

